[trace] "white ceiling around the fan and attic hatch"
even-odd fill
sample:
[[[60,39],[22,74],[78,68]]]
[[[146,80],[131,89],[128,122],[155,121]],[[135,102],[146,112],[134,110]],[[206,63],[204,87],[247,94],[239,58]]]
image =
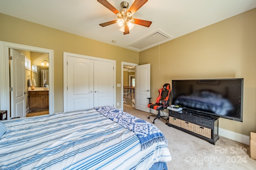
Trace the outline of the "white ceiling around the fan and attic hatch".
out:
[[[108,0],[118,10],[122,1]],[[152,21],[151,26],[135,24],[123,35],[117,24],[99,25],[117,17],[97,0],[0,0],[0,13],[127,49],[156,31],[171,40],[253,8],[256,0],[148,0],[133,17]]]

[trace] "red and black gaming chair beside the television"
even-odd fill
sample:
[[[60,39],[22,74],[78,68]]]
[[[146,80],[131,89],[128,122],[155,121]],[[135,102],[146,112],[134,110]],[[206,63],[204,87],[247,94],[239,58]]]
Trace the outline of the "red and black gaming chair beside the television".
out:
[[[156,117],[153,120],[153,123],[155,123],[155,120],[157,118],[158,119],[162,118],[162,119],[166,120],[166,125],[168,125],[168,121],[167,121],[168,117],[167,116],[161,116],[160,115],[160,110],[163,111],[164,109],[166,109],[169,106],[169,103],[170,103],[170,93],[171,93],[170,84],[164,84],[163,88],[159,89],[158,92],[159,92],[159,96],[156,99],[156,103],[155,104],[150,103],[150,99],[152,99],[152,98],[147,98],[149,100],[148,107],[158,111],[157,115],[150,115],[150,116],[155,116]],[[148,119],[150,119],[150,116],[148,117]],[[167,119],[165,119],[164,117],[167,117]]]

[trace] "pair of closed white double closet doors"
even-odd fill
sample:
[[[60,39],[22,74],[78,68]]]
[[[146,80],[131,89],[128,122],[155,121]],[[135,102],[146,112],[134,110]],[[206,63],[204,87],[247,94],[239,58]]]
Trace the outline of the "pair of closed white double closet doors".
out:
[[[67,61],[65,111],[114,106],[114,63],[72,56]]]

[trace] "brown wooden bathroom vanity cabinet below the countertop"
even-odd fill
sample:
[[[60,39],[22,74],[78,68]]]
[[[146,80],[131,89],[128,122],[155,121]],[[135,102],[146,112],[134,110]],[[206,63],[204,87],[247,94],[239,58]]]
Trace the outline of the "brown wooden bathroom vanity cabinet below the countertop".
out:
[[[28,91],[29,110],[39,110],[49,108],[49,91]]]

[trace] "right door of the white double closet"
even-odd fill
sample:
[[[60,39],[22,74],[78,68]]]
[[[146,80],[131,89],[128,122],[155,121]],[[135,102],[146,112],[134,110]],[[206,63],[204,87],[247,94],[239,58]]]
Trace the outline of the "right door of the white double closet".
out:
[[[94,61],[94,107],[114,106],[114,64]]]

